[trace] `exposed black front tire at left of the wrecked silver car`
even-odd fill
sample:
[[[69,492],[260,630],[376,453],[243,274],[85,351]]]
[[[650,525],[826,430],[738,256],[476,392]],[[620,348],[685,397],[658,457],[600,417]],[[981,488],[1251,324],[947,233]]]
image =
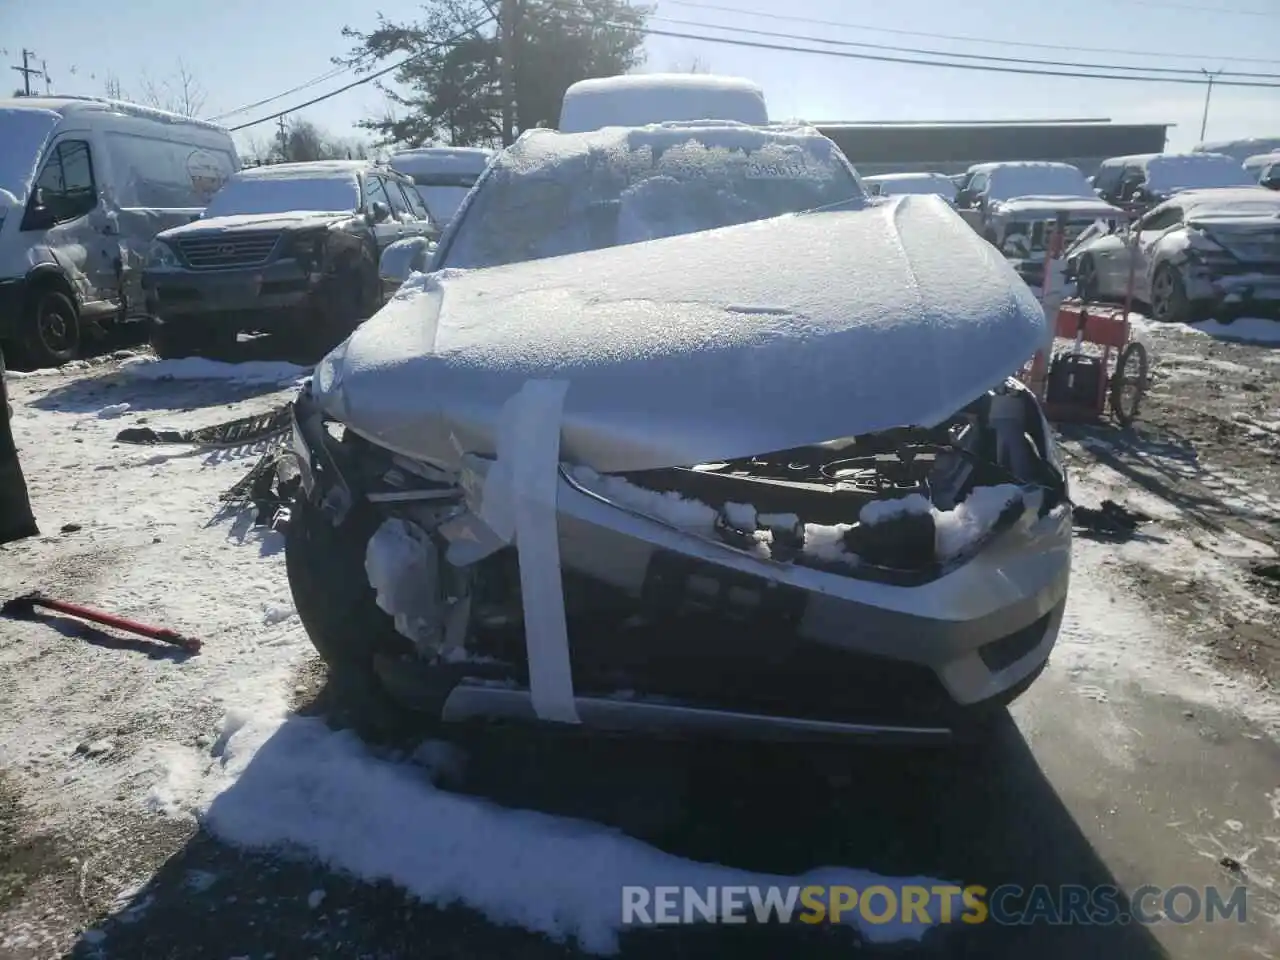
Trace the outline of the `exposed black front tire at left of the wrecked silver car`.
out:
[[[412,655],[412,644],[376,603],[365,573],[365,545],[376,516],[356,507],[340,527],[303,494],[289,509],[284,567],[298,620],[329,667],[337,703],[372,733],[402,728],[410,714],[383,685],[375,658]],[[421,721],[419,721],[421,722]]]

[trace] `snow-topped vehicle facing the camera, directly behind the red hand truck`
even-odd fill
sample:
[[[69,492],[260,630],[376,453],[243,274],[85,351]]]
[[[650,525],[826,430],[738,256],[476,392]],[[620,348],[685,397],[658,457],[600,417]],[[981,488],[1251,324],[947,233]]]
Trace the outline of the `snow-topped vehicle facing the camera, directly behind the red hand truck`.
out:
[[[972,166],[956,206],[1034,288],[1043,283],[1044,259],[1060,220],[1065,250],[1094,223],[1114,227],[1124,219],[1124,211],[1093,193],[1079,168],[1038,161]]]

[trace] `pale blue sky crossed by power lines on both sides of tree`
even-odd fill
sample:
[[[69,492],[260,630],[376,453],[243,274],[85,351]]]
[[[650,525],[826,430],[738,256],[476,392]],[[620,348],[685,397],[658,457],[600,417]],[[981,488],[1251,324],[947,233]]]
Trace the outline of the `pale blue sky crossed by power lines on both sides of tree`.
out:
[[[143,4],[118,0],[0,0],[0,49],[6,63],[23,46],[47,61],[55,92],[101,93],[115,73],[124,90],[143,74],[161,79],[180,58],[207,92],[206,115],[219,114],[294,87],[330,69],[347,50],[344,24],[372,26],[376,12],[412,18],[420,0],[374,4],[337,0],[219,0],[216,4]],[[730,24],[844,41],[888,44],[950,52],[1024,56],[1138,67],[1184,67],[1271,73],[1280,77],[1277,0],[658,0],[657,15],[704,24]],[[772,14],[730,13],[714,6]],[[1242,10],[1261,12],[1249,15]],[[805,23],[810,18],[856,24]],[[716,33],[703,27],[654,20],[655,28]],[[877,29],[870,29],[870,28]],[[954,42],[878,31],[916,31],[982,37],[1010,45]],[[733,36],[719,32],[719,36]],[[763,42],[787,41],[760,37]],[[1160,54],[1103,54],[1048,50],[1112,47]],[[810,44],[809,46],[818,46]],[[1202,86],[1001,76],[899,64],[751,50],[690,40],[650,37],[648,70],[687,68],[695,60],[714,73],[760,83],[771,114],[812,120],[961,120],[1028,116],[1110,116],[1124,122],[1167,122],[1170,147],[1198,140]],[[892,54],[891,54],[892,55]],[[1176,55],[1176,56],[1171,56]],[[1222,58],[1256,58],[1236,63]],[[12,72],[10,72],[12,73]],[[20,81],[12,73],[14,82]],[[347,82],[339,77],[302,93],[227,120],[256,119]],[[1280,83],[1280,78],[1270,81]],[[352,124],[383,111],[372,84],[342,93],[298,114],[351,136]],[[264,124],[251,133],[271,134]],[[1207,137],[1280,136],[1280,88],[1215,87]]]

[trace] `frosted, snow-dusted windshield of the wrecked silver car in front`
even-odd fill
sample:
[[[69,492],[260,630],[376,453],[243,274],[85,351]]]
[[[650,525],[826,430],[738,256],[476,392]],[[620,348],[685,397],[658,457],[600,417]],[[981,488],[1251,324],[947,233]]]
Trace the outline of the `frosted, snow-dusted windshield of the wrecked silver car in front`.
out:
[[[864,200],[836,145],[808,128],[532,131],[454,223],[444,265],[539,260]]]

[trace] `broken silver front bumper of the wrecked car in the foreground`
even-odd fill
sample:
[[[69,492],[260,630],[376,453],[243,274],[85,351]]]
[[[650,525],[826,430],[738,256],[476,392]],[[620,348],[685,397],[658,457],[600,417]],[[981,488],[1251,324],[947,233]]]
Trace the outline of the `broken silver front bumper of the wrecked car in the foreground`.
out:
[[[328,522],[347,522],[362,502],[424,526],[425,511],[472,516],[461,485],[422,484],[421,465],[361,438],[334,439],[308,389],[294,417],[303,495]],[[493,461],[467,461],[466,483],[483,486]],[[1052,506],[997,525],[966,554],[896,577],[682,529],[566,466],[556,516],[561,567],[572,577],[576,714],[620,732],[951,740],[1038,676],[1070,579],[1065,490]],[[476,540],[483,525],[467,529]],[[502,545],[463,549],[481,556]],[[513,552],[490,556],[503,553]],[[518,577],[506,582],[518,591]],[[582,593],[580,603],[571,596]],[[515,607],[507,612],[518,627]],[[618,608],[628,616],[605,616]],[[490,631],[439,667],[451,680],[428,709],[445,721],[536,719],[524,653],[518,628]]]

